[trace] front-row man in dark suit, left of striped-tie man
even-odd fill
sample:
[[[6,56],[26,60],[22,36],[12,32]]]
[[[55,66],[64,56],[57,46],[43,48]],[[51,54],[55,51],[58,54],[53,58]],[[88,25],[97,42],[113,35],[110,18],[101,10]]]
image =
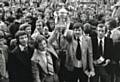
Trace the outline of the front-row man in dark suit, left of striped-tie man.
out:
[[[25,31],[16,33],[17,46],[8,57],[10,82],[32,82],[31,57],[33,49],[28,46]]]

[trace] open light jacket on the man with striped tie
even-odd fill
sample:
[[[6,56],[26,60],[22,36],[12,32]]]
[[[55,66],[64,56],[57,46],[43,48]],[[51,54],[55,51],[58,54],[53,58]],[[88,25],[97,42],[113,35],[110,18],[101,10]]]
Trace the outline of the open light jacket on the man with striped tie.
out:
[[[58,56],[52,47],[51,48],[49,47],[47,49],[47,53],[50,53],[53,60],[53,67],[55,73],[57,73],[56,69],[58,69],[57,66]],[[48,75],[48,70],[41,54],[38,52],[37,49],[34,50],[31,61],[32,61],[32,73],[33,73],[34,82],[43,82],[43,79]]]

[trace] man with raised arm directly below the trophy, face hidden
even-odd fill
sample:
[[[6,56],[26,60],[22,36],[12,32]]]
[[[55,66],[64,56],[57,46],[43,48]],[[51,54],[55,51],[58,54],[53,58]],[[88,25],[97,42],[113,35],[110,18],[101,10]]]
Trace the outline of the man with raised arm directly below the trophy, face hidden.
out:
[[[66,42],[64,39],[65,31],[66,31],[66,26],[58,24],[56,25],[51,36],[48,38],[49,43],[54,47],[60,60],[60,69],[58,68],[60,82],[64,82],[65,80],[65,77],[64,77],[65,75],[64,64],[65,64],[65,54],[66,54],[65,52]]]

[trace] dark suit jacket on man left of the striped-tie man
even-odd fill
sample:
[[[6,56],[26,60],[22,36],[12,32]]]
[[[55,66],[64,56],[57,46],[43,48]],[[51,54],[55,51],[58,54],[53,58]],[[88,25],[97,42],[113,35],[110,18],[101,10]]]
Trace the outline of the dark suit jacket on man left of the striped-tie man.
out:
[[[32,82],[31,57],[33,49],[21,51],[17,46],[8,57],[10,82]]]

